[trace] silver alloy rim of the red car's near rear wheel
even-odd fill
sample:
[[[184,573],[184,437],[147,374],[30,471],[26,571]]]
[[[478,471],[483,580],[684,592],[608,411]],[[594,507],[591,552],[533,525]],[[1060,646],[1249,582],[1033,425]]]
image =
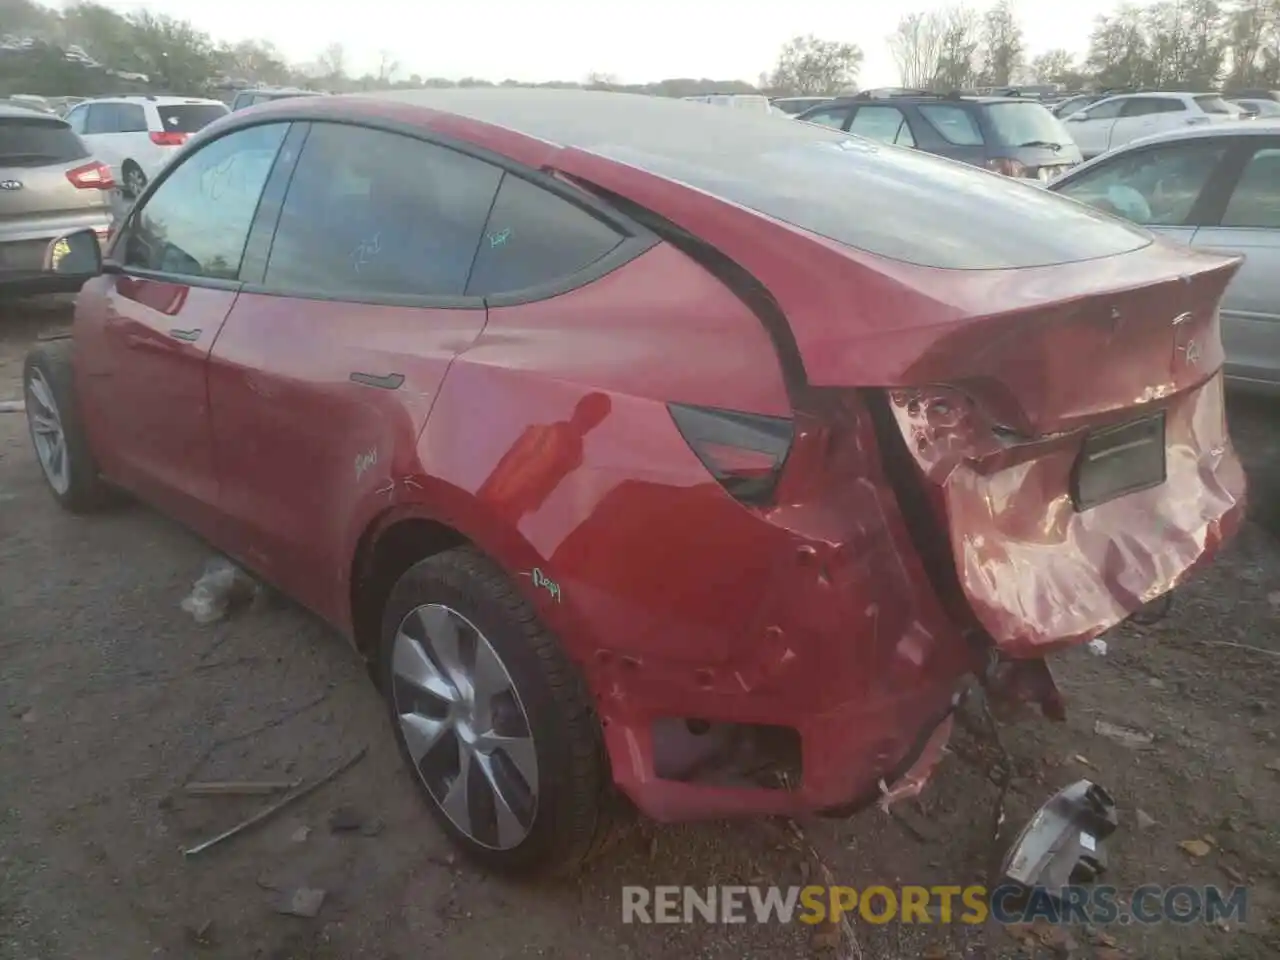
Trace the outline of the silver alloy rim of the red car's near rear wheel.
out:
[[[467,838],[518,846],[538,813],[538,754],[506,664],[443,604],[412,609],[392,648],[392,703],[431,799]]]

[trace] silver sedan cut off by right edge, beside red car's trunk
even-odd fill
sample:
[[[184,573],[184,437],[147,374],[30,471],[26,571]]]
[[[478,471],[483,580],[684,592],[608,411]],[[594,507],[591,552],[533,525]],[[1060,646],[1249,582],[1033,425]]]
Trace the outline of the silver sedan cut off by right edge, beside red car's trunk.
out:
[[[1048,189],[1193,247],[1243,253],[1222,300],[1226,375],[1280,392],[1280,122],[1170,131],[1078,166]]]

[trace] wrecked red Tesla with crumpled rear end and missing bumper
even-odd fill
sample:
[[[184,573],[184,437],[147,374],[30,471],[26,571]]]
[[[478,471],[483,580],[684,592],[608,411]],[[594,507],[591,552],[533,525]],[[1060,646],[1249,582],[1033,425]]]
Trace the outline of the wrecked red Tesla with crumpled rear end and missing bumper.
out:
[[[974,684],[1238,526],[1238,261],[840,131],[616,93],[282,100],[187,145],[26,366],[54,495],[344,631],[443,828],[566,868],[919,790]]]

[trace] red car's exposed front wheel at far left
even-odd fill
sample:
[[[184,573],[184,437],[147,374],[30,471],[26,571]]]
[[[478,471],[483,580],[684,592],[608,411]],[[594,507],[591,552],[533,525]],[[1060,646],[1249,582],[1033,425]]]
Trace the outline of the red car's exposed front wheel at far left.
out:
[[[97,474],[76,404],[72,340],[35,347],[22,379],[31,442],[54,498],[74,513],[102,506],[110,492]]]

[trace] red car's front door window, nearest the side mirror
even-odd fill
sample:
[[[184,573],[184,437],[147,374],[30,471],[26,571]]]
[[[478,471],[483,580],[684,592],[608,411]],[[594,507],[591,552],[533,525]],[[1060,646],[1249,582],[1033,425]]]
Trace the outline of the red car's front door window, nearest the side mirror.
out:
[[[234,280],[287,123],[250,127],[188,156],[132,218],[124,265]]]

